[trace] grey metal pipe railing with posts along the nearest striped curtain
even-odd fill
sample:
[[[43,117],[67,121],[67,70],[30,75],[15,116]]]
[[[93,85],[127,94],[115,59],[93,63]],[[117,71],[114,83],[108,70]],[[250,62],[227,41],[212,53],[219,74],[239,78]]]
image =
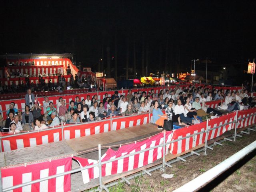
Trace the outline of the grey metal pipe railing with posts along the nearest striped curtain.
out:
[[[163,143],[162,144],[159,144],[157,146],[154,146],[154,147],[150,147],[150,148],[147,148],[147,149],[144,149],[144,150],[140,150],[138,152],[134,152],[134,153],[131,153],[131,154],[126,154],[124,156],[121,156],[121,157],[118,157],[118,158],[114,158],[114,159],[111,159],[111,160],[107,160],[107,161],[104,161],[102,162],[101,161],[101,145],[99,144],[98,145],[98,163],[96,164],[93,164],[93,165],[90,165],[90,166],[86,166],[86,167],[82,167],[82,168],[76,168],[74,170],[70,170],[68,172],[63,172],[63,173],[60,173],[60,174],[56,174],[56,175],[52,175],[52,176],[48,176],[48,177],[45,177],[45,178],[41,178],[41,179],[38,179],[38,180],[34,180],[34,181],[30,181],[30,182],[26,182],[26,183],[23,183],[23,184],[19,184],[19,185],[16,185],[16,186],[12,186],[12,187],[8,187],[8,188],[5,188],[5,189],[2,189],[2,178],[0,178],[0,192],[7,192],[9,190],[14,190],[16,188],[20,188],[20,187],[24,187],[24,186],[28,186],[28,185],[31,185],[31,184],[35,184],[35,183],[38,183],[38,182],[42,182],[42,181],[45,181],[45,180],[49,180],[49,179],[52,179],[52,178],[57,178],[59,176],[64,176],[64,175],[67,175],[67,174],[72,174],[72,173],[76,173],[76,172],[79,172],[81,170],[86,170],[86,169],[89,169],[89,168],[93,168],[93,167],[96,167],[98,166],[99,168],[99,191],[102,191],[102,189],[106,190],[108,192],[108,189],[106,188],[106,186],[102,183],[102,174],[101,174],[101,168],[102,168],[102,165],[106,164],[106,163],[110,163],[110,162],[114,162],[116,160],[120,160],[120,159],[124,159],[124,158],[127,158],[129,156],[134,156],[136,154],[140,154],[140,153],[143,153],[143,152],[146,152],[146,151],[149,151],[149,150],[152,150],[152,149],[155,149],[155,148],[158,148],[158,147],[163,147],[163,158],[162,158],[162,166],[160,166],[159,168],[162,168],[162,170],[164,171],[165,169],[165,166],[168,166],[168,167],[171,167],[170,164],[168,164],[166,161],[165,161],[165,148],[168,144],[171,144],[171,143],[174,143],[174,142],[178,142],[180,140],[185,140],[186,138],[190,138],[190,137],[194,137],[198,134],[202,134],[202,133],[206,133],[206,138],[205,138],[205,146],[204,146],[204,154],[206,154],[207,152],[207,149],[212,149],[210,146],[208,146],[207,144],[207,140],[208,140],[208,133],[210,132],[210,130],[214,130],[214,129],[217,129],[219,127],[222,127],[222,126],[226,126],[228,124],[232,124],[232,123],[235,123],[235,134],[233,135],[233,138],[235,140],[236,136],[238,136],[236,134],[236,129],[237,129],[237,122],[239,120],[243,120],[245,118],[248,118],[250,116],[255,116],[255,113],[254,114],[251,114],[250,116],[246,116],[246,117],[242,117],[242,118],[237,118],[238,116],[238,111],[236,111],[236,117],[235,117],[235,120],[234,121],[231,121],[231,122],[228,122],[226,124],[222,124],[220,126],[216,126],[214,128],[210,128],[208,129],[208,122],[209,122],[209,119],[207,119],[207,122],[206,122],[206,130],[204,131],[201,131],[201,132],[198,132],[196,134],[191,134],[189,136],[185,136],[185,137],[182,137],[182,138],[179,138],[179,139],[176,139],[176,140],[172,140],[170,142],[166,142],[166,131],[164,130],[163,131],[163,137],[164,137],[164,140],[163,140]],[[254,122],[253,122],[254,123]],[[252,130],[252,129],[250,129]],[[255,131],[255,130],[254,130]],[[230,140],[230,139],[227,139],[227,140]],[[232,141],[232,140],[231,140]],[[216,142],[215,142],[216,143]],[[218,143],[216,143],[218,144]],[[197,154],[196,152],[194,152],[194,154]],[[182,158],[180,158],[182,160]],[[1,176],[2,177],[2,176]]]

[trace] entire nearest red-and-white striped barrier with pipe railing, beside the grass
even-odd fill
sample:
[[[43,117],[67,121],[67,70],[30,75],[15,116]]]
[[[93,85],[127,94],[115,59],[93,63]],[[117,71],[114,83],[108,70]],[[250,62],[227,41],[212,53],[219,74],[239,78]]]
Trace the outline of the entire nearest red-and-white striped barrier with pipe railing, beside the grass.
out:
[[[255,131],[255,128],[253,128],[255,126],[255,117],[255,108],[236,111],[216,119],[201,122],[200,124],[170,132],[164,131],[145,138],[144,140],[118,144],[117,146],[119,146],[119,149],[117,151],[111,149],[116,146],[101,146],[99,144],[98,160],[75,157],[91,151],[85,150],[81,153],[65,154],[61,157],[52,159],[27,163],[23,162],[16,166],[4,167],[1,168],[1,181],[3,181],[1,186],[3,186],[3,191],[13,190],[14,188],[20,187],[23,187],[23,190],[35,191],[34,189],[39,189],[46,184],[44,181],[56,178],[47,182],[48,190],[50,187],[53,187],[52,191],[58,191],[59,188],[61,188],[61,191],[69,191],[72,185],[70,174],[86,170],[82,172],[84,184],[79,184],[82,188],[76,188],[76,190],[73,188],[72,191],[84,190],[86,189],[86,186],[87,188],[99,186],[97,190],[105,189],[108,191],[107,187],[113,185],[107,185],[108,182],[122,177],[120,182],[129,183],[129,179],[134,176],[129,178],[125,178],[125,176],[132,173],[143,170],[142,174],[150,175],[152,170],[159,168],[164,170],[166,166],[171,167],[171,163],[179,160],[186,161],[185,158],[193,154],[199,155],[199,152],[202,151],[206,154],[208,149],[213,149],[212,146],[221,145],[223,139],[232,141],[232,139],[235,140],[238,136],[241,137],[241,134],[238,133],[249,134],[250,131]],[[245,131],[246,129],[247,131]],[[230,131],[234,132],[230,133]],[[109,148],[103,156],[101,154],[102,148]],[[97,148],[94,148],[92,150],[96,149]],[[72,158],[79,162],[81,166],[80,168],[71,170],[70,161]],[[29,171],[31,170],[31,166],[36,165],[36,167],[38,167],[37,172],[44,172],[47,168],[47,166],[44,165],[46,162],[48,168],[50,166],[49,172],[51,172],[51,174],[43,175]],[[55,163],[56,165],[54,166],[52,163]],[[161,165],[146,170],[146,168],[158,164]],[[62,167],[61,170],[58,168],[60,166]],[[56,170],[56,167],[57,172],[52,171]],[[26,174],[27,179],[18,179],[24,178],[24,174]],[[90,181],[91,179],[93,180]],[[76,182],[76,186],[77,185],[78,183]]]

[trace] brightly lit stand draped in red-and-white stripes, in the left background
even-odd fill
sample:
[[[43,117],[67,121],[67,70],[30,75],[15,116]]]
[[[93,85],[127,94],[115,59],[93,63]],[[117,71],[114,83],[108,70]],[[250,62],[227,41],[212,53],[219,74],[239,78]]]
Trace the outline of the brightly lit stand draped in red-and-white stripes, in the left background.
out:
[[[98,87],[102,84],[105,87],[105,81],[102,78],[96,78],[93,72],[80,71],[70,60],[72,54],[5,54],[1,56],[6,61],[6,67],[0,68],[0,81],[2,85],[25,84],[25,76],[29,77],[30,84],[39,84],[39,74],[47,84],[49,80],[53,84],[58,84],[58,76],[62,74],[65,77],[66,85],[70,82],[70,75],[75,78],[84,76],[90,77],[92,82],[96,82]],[[15,74],[15,76],[11,76]],[[21,76],[21,77],[20,77]]]

